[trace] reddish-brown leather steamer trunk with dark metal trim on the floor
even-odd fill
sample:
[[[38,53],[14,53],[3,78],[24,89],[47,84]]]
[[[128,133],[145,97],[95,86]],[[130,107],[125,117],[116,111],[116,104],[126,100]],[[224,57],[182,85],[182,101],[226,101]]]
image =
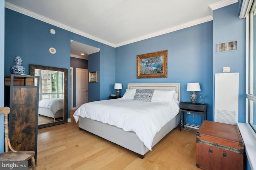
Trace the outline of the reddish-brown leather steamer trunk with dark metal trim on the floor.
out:
[[[197,167],[205,170],[243,170],[244,142],[236,125],[206,120],[196,135]]]

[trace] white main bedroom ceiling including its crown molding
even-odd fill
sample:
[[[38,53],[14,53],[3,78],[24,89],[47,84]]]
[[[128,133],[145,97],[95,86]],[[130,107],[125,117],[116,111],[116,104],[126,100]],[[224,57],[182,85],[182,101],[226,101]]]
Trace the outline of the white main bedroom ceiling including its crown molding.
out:
[[[5,0],[5,7],[120,47],[212,20],[238,0]]]

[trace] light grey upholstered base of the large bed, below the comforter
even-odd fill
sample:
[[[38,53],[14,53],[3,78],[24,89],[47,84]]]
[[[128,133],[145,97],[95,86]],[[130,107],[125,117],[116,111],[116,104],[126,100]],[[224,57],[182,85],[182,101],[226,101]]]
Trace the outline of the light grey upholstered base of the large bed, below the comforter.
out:
[[[162,129],[156,133],[152,147],[156,145],[165,135],[174,129],[179,122],[179,114],[170,120]],[[84,129],[90,133],[98,135],[108,141],[116,143],[126,149],[132,150],[144,158],[148,148],[140,141],[136,133],[133,131],[124,131],[113,125],[102,123],[100,121],[79,117],[79,128]]]

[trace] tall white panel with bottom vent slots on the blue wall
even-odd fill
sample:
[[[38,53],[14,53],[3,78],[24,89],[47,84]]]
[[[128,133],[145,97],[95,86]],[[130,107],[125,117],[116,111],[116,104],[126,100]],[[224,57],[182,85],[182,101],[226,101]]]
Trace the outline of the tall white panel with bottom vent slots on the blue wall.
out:
[[[214,121],[238,122],[239,73],[215,74]]]

